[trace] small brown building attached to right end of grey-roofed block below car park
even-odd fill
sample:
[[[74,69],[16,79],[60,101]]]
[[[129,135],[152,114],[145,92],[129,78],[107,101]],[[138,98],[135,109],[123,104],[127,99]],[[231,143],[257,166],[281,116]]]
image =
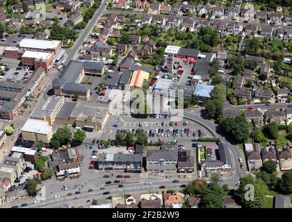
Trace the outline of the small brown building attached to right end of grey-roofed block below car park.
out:
[[[178,173],[195,172],[195,157],[190,154],[189,150],[179,150],[177,160]]]

